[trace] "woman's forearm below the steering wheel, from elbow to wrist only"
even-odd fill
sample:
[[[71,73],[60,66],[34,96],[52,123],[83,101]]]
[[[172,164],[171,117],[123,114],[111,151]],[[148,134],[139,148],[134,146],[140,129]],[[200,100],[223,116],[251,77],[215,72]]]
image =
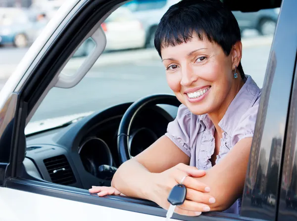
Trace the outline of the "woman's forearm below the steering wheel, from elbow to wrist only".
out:
[[[119,167],[112,178],[111,185],[126,196],[150,200],[147,192],[153,175],[137,160],[132,159]]]

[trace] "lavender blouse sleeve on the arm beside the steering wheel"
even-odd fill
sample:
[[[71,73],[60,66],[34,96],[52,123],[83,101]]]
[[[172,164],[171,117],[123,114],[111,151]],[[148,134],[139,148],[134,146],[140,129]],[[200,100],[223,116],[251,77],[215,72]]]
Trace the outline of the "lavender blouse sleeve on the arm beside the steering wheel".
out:
[[[191,157],[190,128],[191,112],[181,104],[175,120],[168,124],[165,135],[189,157]]]

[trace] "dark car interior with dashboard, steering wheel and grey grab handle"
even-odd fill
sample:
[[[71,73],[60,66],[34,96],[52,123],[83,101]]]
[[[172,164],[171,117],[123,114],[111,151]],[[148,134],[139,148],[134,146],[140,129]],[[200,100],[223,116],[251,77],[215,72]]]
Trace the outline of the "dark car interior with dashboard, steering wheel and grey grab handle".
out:
[[[281,0],[224,0],[233,10],[256,11],[280,6]],[[151,94],[135,102],[111,105],[53,124],[50,127],[30,122],[52,88],[73,88],[87,75],[106,45],[101,23],[120,7],[114,7],[98,21],[75,49],[28,115],[26,156],[27,177],[33,180],[89,189],[92,185],[110,186],[112,176],[125,161],[136,156],[162,136],[177,114],[180,102],[169,93]],[[63,72],[75,51],[89,38],[93,51],[75,72]],[[35,130],[42,128],[42,130]]]

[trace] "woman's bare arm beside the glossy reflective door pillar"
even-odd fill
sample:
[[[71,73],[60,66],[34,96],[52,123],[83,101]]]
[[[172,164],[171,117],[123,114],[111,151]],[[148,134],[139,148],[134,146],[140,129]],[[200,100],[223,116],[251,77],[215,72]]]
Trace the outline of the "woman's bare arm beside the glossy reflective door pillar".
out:
[[[204,177],[195,178],[210,187],[210,194],[216,199],[209,205],[211,211],[228,209],[244,189],[252,137],[240,140],[230,152]]]

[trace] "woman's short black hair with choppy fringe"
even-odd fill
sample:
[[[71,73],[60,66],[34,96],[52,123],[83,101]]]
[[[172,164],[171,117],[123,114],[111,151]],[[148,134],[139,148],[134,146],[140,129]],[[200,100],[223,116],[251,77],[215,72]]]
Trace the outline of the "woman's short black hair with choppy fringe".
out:
[[[232,46],[241,41],[238,22],[231,10],[220,0],[181,0],[170,6],[161,18],[154,38],[154,45],[161,56],[161,48],[190,41],[193,35],[200,40],[206,37],[220,45],[228,56]],[[241,62],[238,70],[245,74]]]

